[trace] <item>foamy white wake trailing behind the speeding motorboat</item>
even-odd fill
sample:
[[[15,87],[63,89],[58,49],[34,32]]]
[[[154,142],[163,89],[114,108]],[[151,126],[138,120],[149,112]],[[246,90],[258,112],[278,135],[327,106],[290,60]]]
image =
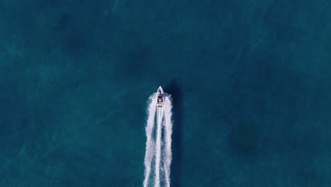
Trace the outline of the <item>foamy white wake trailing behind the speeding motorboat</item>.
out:
[[[173,106],[168,94],[164,94],[163,107],[157,107],[156,100],[157,94],[151,95],[147,109],[144,187],[170,187]]]

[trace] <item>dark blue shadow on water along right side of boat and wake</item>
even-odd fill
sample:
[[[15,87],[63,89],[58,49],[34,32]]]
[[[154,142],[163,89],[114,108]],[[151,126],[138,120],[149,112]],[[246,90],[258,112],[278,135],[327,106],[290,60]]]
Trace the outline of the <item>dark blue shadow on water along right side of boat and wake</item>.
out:
[[[181,163],[182,163],[182,91],[175,79],[173,79],[168,86],[165,86],[165,91],[171,94],[173,98],[173,159],[171,163],[171,185],[180,186],[181,179]]]

